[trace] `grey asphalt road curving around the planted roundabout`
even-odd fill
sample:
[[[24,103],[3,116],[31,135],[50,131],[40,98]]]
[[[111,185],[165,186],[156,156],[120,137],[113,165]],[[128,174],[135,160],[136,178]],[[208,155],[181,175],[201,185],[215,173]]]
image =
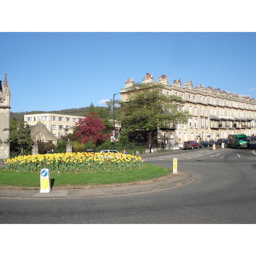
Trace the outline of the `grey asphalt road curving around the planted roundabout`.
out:
[[[193,181],[137,195],[72,199],[0,198],[1,224],[255,224],[256,142],[143,157],[189,172]]]

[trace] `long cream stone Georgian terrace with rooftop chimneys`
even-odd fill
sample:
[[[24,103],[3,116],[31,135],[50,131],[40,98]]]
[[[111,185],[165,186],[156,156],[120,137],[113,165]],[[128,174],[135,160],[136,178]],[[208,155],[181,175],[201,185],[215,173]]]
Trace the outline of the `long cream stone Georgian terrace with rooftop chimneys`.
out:
[[[158,77],[154,82],[153,76],[147,73],[143,83],[161,84],[164,95],[177,95],[186,102],[183,109],[190,113],[187,124],[170,123],[169,129],[157,129],[157,139],[172,138],[173,148],[186,140],[209,141],[227,138],[228,134],[256,134],[254,98],[204,87],[202,84],[193,88],[192,81],[185,82],[182,87],[180,79],[169,85],[167,75]],[[125,88],[121,89],[122,101],[128,101],[128,89],[134,84],[133,79],[126,80]]]

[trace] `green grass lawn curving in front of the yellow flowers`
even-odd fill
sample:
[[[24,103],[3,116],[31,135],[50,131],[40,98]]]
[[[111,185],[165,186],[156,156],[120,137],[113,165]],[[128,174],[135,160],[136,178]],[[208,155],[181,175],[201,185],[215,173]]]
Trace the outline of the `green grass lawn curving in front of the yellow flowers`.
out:
[[[51,186],[91,186],[113,183],[130,183],[164,177],[171,173],[167,168],[143,163],[143,169],[112,172],[50,173]],[[0,168],[0,186],[40,187],[40,171],[7,172]]]

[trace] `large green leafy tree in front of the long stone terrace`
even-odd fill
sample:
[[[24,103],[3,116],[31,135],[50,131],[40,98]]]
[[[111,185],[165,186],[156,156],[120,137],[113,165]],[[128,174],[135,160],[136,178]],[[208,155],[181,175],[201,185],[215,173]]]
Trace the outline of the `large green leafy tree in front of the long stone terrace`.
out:
[[[122,132],[146,131],[151,143],[152,132],[157,127],[170,128],[170,124],[188,122],[189,112],[182,108],[185,101],[178,96],[163,95],[163,85],[135,84],[129,89],[128,102],[123,102],[121,107]]]

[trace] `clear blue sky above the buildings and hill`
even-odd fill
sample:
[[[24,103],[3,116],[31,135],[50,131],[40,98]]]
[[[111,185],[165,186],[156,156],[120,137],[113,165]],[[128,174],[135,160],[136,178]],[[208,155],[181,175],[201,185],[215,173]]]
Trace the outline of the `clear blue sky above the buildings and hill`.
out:
[[[256,99],[255,32],[1,32],[0,51],[12,112],[105,106],[146,73]]]

